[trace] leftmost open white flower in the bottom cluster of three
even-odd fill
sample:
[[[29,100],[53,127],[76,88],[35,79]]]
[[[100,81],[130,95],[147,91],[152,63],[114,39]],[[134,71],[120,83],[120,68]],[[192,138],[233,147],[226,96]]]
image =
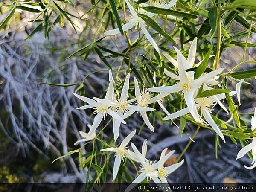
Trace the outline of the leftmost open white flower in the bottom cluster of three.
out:
[[[114,162],[114,167],[113,167],[113,180],[116,179],[116,175],[118,173],[121,160],[124,160],[127,155],[128,155],[128,143],[130,142],[131,138],[134,137],[136,133],[136,130],[131,131],[130,134],[128,134],[127,137],[122,141],[122,143],[118,147],[110,147],[110,148],[105,148],[101,149],[100,151],[109,151],[109,152],[115,152],[115,162]]]

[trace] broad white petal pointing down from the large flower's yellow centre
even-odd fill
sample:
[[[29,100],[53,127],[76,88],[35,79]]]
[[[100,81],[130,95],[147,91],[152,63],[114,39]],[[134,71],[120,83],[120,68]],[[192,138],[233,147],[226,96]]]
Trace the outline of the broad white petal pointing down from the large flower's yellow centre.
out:
[[[184,91],[184,99],[189,108],[189,112],[191,113],[191,115],[195,119],[195,121],[199,122],[199,123],[203,123],[201,120],[201,117],[198,114],[197,108],[195,106],[194,93],[195,93],[195,89],[191,89],[189,91],[187,91],[187,90]]]

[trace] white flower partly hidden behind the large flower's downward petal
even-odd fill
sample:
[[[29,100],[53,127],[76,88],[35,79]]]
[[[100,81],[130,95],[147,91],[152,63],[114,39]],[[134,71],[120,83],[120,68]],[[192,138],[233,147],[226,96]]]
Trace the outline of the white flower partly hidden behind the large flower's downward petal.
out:
[[[236,94],[236,91],[230,92],[230,96]],[[225,143],[224,135],[221,133],[220,128],[218,128],[218,125],[216,125],[215,121],[212,119],[211,116],[211,110],[210,108],[214,107],[216,105],[217,100],[225,99],[226,96],[225,94],[218,94],[215,96],[209,96],[209,97],[204,97],[204,98],[196,98],[195,99],[195,105],[197,110],[201,110],[201,115],[204,116],[204,119],[207,121],[207,123],[214,129],[214,131],[221,137],[221,139]],[[221,108],[223,108],[225,111],[227,109],[224,107],[224,105],[221,104]],[[169,119],[174,119],[183,115],[186,115],[189,113],[189,108],[184,108],[181,109],[180,111],[177,111],[175,113],[172,113],[171,115],[166,116],[163,118],[163,120],[169,120]]]

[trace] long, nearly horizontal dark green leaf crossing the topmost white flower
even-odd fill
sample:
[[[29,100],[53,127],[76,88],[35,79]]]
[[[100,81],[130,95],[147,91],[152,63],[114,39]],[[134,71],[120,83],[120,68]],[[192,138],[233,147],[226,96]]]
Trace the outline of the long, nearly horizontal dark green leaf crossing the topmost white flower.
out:
[[[187,18],[192,18],[196,19],[197,15],[193,15],[191,13],[185,13],[185,12],[180,12],[172,9],[164,9],[164,8],[159,8],[159,7],[154,7],[154,6],[146,6],[146,7],[141,7],[142,9],[146,10],[147,12],[151,13],[156,13],[160,15],[173,15],[173,16],[178,16],[178,17],[187,17]]]

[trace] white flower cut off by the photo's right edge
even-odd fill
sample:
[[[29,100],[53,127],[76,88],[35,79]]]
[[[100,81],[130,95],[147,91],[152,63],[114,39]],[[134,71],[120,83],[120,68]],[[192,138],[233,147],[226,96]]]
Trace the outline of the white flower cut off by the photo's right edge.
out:
[[[252,116],[251,124],[252,124],[252,131],[253,131],[254,129],[256,129],[256,108],[254,108],[254,116]],[[253,161],[251,163],[252,166],[247,167],[244,165],[246,169],[253,169],[256,167],[256,137],[253,137],[252,143],[250,143],[249,145],[246,145],[244,148],[242,148],[238,152],[236,159],[240,159],[241,157],[244,157],[244,155],[247,154],[250,150],[252,150],[252,154],[253,154]]]

